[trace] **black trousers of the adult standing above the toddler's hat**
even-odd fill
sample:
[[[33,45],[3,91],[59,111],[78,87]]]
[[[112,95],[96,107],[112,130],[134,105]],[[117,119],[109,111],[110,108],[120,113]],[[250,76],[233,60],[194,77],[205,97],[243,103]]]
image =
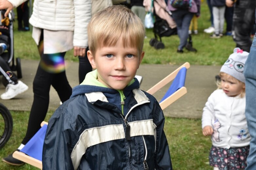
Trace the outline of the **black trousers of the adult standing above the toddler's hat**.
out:
[[[255,22],[255,0],[240,0],[237,1],[233,15],[233,39],[236,42],[236,47],[250,52],[251,47],[251,30]]]

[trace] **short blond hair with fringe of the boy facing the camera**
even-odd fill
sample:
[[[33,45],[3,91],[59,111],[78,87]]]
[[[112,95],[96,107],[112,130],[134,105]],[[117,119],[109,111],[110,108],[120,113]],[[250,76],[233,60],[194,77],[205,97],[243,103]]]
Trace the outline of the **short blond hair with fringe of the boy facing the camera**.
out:
[[[89,50],[113,46],[121,38],[124,46],[137,47],[142,53],[145,28],[140,18],[122,5],[114,5],[93,15],[88,24]]]

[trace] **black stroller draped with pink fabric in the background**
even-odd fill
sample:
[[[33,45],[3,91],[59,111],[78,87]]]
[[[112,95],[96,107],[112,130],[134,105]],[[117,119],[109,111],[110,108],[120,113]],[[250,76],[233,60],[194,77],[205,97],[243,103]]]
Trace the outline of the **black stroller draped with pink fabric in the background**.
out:
[[[153,2],[152,2],[153,1]],[[155,17],[153,33],[155,38],[150,39],[149,44],[156,49],[164,49],[162,37],[169,37],[177,34],[176,23],[171,17],[171,11],[168,10],[165,0],[144,0],[146,11],[150,9]],[[159,38],[159,40],[158,40]]]

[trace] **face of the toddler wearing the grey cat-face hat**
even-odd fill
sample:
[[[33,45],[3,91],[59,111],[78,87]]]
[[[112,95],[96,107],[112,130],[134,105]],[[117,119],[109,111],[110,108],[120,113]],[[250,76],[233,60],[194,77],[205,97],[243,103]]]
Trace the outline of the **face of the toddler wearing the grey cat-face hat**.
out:
[[[221,88],[227,96],[235,97],[242,93],[245,84],[227,74],[221,76]]]

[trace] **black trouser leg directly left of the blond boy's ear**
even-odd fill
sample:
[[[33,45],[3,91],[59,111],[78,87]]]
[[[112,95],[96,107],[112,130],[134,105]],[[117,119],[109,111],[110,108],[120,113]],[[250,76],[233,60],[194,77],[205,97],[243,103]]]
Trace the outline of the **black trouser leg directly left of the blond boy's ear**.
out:
[[[89,48],[87,47],[85,52],[85,57],[80,57],[80,56],[78,57],[79,58],[79,68],[78,68],[79,84],[81,84],[84,81],[86,74],[92,71],[91,64],[87,57],[88,50]]]

